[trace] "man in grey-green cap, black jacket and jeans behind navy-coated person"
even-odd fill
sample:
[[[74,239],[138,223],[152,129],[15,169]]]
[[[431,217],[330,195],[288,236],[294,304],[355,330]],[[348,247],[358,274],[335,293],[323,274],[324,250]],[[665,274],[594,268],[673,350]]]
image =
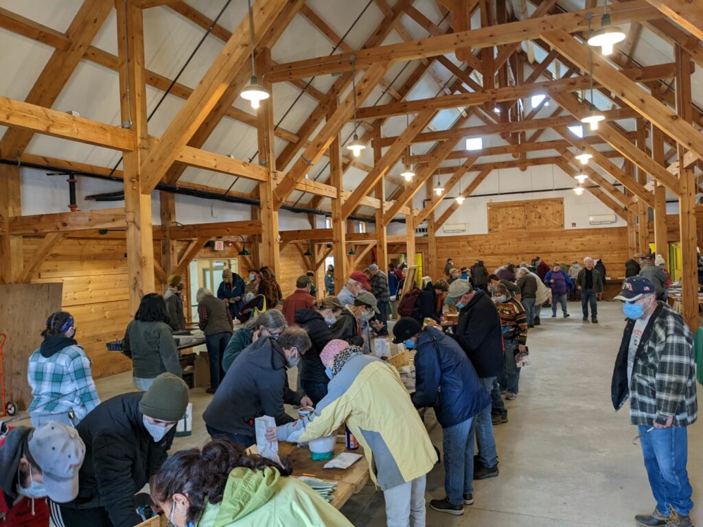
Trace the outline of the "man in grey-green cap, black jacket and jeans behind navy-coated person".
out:
[[[501,318],[496,306],[487,294],[475,291],[467,280],[456,280],[449,286],[447,301],[455,304],[459,310],[459,322],[453,338],[466,352],[484,390],[490,395],[496,378],[505,367]],[[470,434],[469,441],[472,445],[476,437],[479,458],[472,474],[467,474],[467,481],[498,476],[498,456],[490,406],[475,417]],[[473,488],[465,490],[473,492]]]

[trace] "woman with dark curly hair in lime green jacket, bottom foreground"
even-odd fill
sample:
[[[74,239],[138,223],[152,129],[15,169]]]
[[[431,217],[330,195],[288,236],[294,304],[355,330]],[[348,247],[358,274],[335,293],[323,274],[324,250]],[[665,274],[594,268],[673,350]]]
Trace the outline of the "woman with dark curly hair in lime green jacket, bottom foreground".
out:
[[[174,527],[352,525],[290,473],[286,460],[247,455],[221,438],[169,457],[152,495]]]

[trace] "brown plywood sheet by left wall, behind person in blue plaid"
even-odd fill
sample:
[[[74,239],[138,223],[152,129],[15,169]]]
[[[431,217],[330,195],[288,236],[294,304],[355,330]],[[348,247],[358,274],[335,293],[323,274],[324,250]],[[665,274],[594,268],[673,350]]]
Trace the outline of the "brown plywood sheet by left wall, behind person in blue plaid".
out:
[[[26,409],[32,402],[27,360],[41,344],[46,319],[61,309],[61,284],[0,285],[0,298],[0,333],[7,335],[3,347],[6,389]]]

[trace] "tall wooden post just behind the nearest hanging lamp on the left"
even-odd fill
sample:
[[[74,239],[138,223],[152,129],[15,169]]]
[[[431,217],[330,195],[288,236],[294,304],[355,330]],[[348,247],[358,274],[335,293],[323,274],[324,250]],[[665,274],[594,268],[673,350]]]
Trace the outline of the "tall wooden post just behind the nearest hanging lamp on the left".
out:
[[[264,48],[259,53],[257,69],[265,72],[271,63],[271,49]],[[260,79],[269,93],[273,93],[271,82],[265,77]],[[261,200],[262,230],[261,264],[280,274],[280,247],[278,245],[278,209],[274,206],[273,171],[276,170],[276,155],[273,152],[273,96],[262,100],[257,110],[259,121],[259,164],[269,169],[269,181],[259,183],[259,200]]]

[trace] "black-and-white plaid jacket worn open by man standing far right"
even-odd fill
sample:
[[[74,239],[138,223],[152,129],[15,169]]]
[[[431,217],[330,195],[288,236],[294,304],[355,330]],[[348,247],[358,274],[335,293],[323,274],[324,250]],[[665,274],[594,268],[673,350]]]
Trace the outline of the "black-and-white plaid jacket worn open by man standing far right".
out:
[[[627,379],[627,355],[635,321],[628,320],[615,363],[613,405],[622,407],[630,396],[632,424],[651,427],[655,419],[674,417],[674,427],[697,419],[693,334],[681,315],[659,302],[637,349],[632,378]]]

